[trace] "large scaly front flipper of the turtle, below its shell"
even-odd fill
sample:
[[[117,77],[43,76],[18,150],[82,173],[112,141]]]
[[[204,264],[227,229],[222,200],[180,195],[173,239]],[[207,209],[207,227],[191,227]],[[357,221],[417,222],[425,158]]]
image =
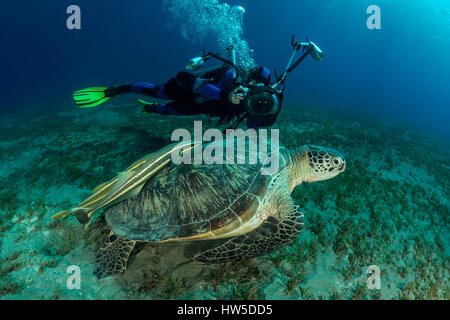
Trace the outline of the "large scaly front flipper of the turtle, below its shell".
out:
[[[277,251],[295,240],[303,227],[303,214],[295,205],[289,212],[269,217],[257,229],[199,253],[195,261],[224,263],[260,257]]]

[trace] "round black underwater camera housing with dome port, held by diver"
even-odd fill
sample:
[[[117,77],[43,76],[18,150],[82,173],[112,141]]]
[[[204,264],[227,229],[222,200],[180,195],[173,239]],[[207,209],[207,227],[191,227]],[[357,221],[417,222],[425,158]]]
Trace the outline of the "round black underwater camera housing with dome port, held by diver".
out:
[[[245,110],[250,118],[261,127],[270,127],[281,111],[283,94],[272,87],[257,86],[247,93]]]

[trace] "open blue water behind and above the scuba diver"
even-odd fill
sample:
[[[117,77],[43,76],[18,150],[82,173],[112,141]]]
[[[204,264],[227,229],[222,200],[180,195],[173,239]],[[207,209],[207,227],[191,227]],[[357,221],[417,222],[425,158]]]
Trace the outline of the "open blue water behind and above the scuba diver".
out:
[[[3,3],[1,112],[67,106],[73,90],[93,85],[164,82],[202,48],[219,49],[227,32],[254,50],[256,63],[281,70],[296,35],[315,41],[325,59],[307,59],[289,76],[287,105],[365,114],[450,138],[447,0],[230,0],[246,9],[242,23],[231,25],[198,19],[214,17],[224,1],[164,2],[165,10],[156,0]],[[82,10],[81,30],[66,28],[71,4]],[[366,27],[372,4],[381,8],[381,30]],[[178,9],[191,19],[175,17]]]

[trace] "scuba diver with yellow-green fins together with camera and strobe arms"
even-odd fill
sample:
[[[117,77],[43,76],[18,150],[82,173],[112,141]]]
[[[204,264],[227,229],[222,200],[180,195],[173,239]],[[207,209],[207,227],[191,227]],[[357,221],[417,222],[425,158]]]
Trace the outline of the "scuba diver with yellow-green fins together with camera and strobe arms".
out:
[[[181,71],[165,84],[150,83],[122,84],[112,87],[95,87],[76,91],[73,99],[79,107],[95,107],[111,98],[125,93],[147,95],[168,103],[139,100],[144,114],[198,115],[219,117],[217,125],[231,123],[236,129],[247,119],[249,128],[271,127],[277,120],[283,102],[286,75],[293,71],[306,56],[315,60],[323,58],[322,51],[311,41],[299,43],[292,37],[294,52],[283,74],[271,83],[271,72],[263,66],[245,70],[236,65],[234,47],[227,48],[231,60],[223,53],[207,53],[193,58],[186,64],[189,71]],[[304,54],[295,62],[294,57],[301,48]],[[200,70],[215,58],[223,65]]]

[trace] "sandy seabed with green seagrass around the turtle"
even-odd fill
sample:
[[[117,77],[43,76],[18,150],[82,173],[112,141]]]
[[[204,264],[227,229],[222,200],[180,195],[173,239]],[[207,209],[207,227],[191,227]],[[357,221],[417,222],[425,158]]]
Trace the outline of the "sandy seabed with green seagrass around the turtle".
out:
[[[95,252],[108,228],[73,217],[92,189],[170,143],[192,117],[142,116],[134,105],[65,108],[0,119],[2,299],[449,299],[448,146],[393,124],[285,110],[280,140],[344,154],[340,176],[292,194],[305,214],[294,243],[235,264],[186,260],[185,244],[142,244],[122,274],[98,281]],[[204,129],[214,125],[207,118]],[[207,125],[205,125],[207,124]],[[81,270],[80,290],[66,286]],[[379,266],[380,290],[367,287]]]

